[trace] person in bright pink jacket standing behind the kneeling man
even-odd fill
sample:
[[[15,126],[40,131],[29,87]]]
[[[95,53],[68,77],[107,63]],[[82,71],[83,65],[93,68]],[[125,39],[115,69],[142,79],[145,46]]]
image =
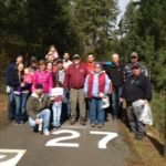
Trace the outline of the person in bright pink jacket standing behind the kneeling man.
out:
[[[39,70],[35,71],[33,76],[32,92],[34,92],[35,84],[43,85],[43,92],[49,94],[50,90],[53,87],[53,81],[51,73],[46,70],[46,63],[44,60],[39,61]]]

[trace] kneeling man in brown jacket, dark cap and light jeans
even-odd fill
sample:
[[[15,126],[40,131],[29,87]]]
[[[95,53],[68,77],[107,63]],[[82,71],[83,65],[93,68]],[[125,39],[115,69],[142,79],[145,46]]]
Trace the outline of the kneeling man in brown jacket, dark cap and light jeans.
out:
[[[50,105],[54,98],[48,100],[48,96],[43,93],[43,85],[35,84],[35,91],[31,94],[27,102],[27,112],[29,114],[29,125],[35,129],[39,126],[41,131],[41,125],[43,124],[43,134],[45,136],[50,135],[49,124],[50,124]]]

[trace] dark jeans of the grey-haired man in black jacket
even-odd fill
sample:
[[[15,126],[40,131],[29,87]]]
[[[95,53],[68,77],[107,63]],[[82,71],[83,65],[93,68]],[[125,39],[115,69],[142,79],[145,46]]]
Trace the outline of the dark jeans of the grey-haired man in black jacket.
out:
[[[112,108],[113,108],[113,116],[118,116],[121,111],[121,102],[120,96],[122,94],[122,87],[114,87],[112,94]]]

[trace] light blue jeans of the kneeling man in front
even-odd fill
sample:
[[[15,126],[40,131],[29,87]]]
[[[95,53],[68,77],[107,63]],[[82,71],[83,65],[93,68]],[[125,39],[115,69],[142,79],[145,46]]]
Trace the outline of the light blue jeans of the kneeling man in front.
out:
[[[51,115],[51,113],[50,113],[49,108],[44,108],[39,114],[37,114],[37,118],[42,118],[43,120],[43,131],[49,129],[50,115]],[[32,117],[29,117],[29,125],[31,127],[34,127],[35,126],[35,120],[33,120]]]

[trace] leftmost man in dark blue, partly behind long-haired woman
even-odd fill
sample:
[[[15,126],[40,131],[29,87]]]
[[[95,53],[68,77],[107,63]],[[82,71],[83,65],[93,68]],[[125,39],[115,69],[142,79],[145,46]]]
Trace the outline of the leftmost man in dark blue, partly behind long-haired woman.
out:
[[[14,97],[13,97],[13,89],[12,89],[12,82],[11,82],[11,76],[12,72],[17,68],[18,64],[23,62],[23,56],[19,54],[15,59],[15,61],[11,62],[8,68],[7,68],[7,73],[6,73],[6,82],[7,82],[7,93],[8,93],[8,118],[10,122],[14,120]]]

